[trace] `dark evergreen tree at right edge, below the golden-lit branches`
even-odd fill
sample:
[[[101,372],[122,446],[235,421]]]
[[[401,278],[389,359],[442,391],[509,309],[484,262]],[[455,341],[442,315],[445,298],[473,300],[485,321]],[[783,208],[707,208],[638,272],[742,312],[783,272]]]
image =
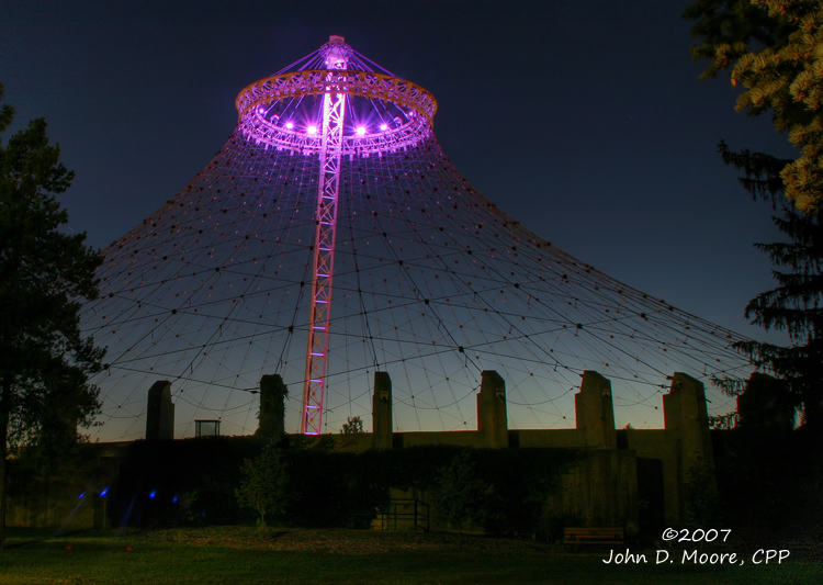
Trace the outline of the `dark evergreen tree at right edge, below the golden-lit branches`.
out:
[[[762,153],[733,153],[721,143],[723,160],[744,172],[741,183],[753,198],[779,206],[775,225],[788,241],[756,244],[776,269],[778,286],[755,296],[746,317],[766,330],[786,331],[790,345],[743,341],[737,349],[752,363],[778,376],[778,398],[801,409],[809,427],[820,428],[823,414],[823,225],[820,215],[788,205],[780,171],[791,161]]]

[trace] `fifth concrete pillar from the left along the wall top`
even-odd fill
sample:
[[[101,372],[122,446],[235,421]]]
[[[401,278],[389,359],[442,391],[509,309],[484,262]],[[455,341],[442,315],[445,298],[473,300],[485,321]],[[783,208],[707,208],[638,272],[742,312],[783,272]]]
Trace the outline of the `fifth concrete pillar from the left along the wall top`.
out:
[[[617,448],[611,382],[597,372],[583,372],[580,391],[574,395],[577,429],[586,434],[586,447]]]

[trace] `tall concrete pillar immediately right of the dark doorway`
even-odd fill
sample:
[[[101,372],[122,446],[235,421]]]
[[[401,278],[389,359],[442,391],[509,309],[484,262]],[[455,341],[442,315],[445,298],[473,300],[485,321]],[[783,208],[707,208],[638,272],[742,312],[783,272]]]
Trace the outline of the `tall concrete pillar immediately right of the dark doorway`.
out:
[[[694,519],[690,517],[702,510],[692,509],[692,500],[706,508],[706,502],[718,493],[709,410],[702,382],[676,372],[672,376],[672,390],[663,396],[663,417],[666,430],[674,435],[677,443],[679,519]],[[669,498],[666,499],[670,502]]]

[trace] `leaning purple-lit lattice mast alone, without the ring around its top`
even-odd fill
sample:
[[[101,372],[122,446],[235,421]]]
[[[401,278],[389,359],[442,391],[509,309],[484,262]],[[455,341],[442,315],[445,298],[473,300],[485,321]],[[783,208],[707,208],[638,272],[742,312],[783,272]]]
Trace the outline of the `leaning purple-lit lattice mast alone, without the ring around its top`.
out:
[[[341,36],[331,36],[326,45],[327,90],[345,79],[335,71],[346,70],[351,49]],[[318,435],[323,425],[323,396],[326,384],[329,320],[331,317],[331,281],[335,275],[335,233],[337,201],[340,195],[340,159],[346,116],[346,93],[323,94],[323,134],[320,142],[320,176],[317,181],[317,230],[312,267],[312,305],[308,319],[306,376],[303,386],[301,432]]]

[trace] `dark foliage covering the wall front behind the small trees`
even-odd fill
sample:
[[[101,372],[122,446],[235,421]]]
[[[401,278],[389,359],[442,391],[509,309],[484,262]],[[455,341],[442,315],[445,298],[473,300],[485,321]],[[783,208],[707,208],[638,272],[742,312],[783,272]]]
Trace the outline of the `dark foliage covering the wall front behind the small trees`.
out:
[[[144,527],[251,524],[257,516],[237,505],[235,490],[244,460],[253,460],[266,445],[256,437],[217,437],[125,446],[111,517],[115,524]],[[439,470],[461,449],[432,446],[354,454],[293,445],[281,452],[290,490],[282,524],[368,528],[387,508],[390,487],[435,490]],[[576,455],[570,450],[476,449],[463,457],[471,460],[477,481],[488,486],[484,527],[534,535],[543,530],[543,504],[557,474]]]

